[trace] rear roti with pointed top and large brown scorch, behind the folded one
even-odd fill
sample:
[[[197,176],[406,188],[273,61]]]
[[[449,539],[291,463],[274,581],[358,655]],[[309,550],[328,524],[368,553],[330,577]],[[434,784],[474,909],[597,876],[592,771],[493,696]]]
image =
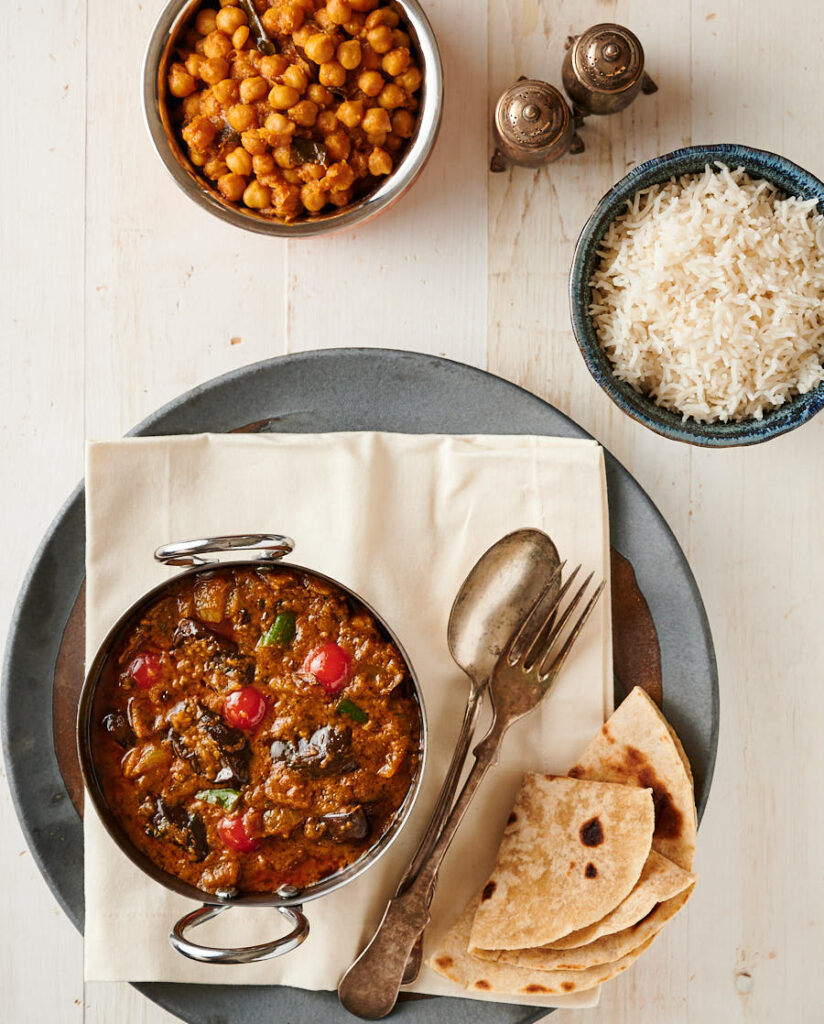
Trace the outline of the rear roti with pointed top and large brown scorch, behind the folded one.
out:
[[[669,723],[644,690],[636,686],[569,774],[572,778],[652,788],[652,848],[689,871],[695,859],[697,816],[688,764]]]

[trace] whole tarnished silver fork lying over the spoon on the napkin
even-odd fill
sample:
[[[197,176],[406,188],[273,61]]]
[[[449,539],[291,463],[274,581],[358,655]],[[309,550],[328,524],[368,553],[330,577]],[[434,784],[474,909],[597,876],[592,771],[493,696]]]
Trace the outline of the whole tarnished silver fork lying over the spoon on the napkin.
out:
[[[602,581],[564,637],[575,608],[580,604],[594,573],[584,580],[569,600],[580,566],[570,573],[557,594],[545,590],[524,622],[502,651],[489,680],[492,724],[473,751],[475,764],[429,857],[418,876],[389,901],[378,931],[338,985],[346,1009],[364,1020],[379,1020],[392,1010],[409,953],[429,924],[429,893],[438,868],[464,815],[487,771],[497,764],[501,744],[509,727],[528,715],[552,689],[558,673],[604,589]]]

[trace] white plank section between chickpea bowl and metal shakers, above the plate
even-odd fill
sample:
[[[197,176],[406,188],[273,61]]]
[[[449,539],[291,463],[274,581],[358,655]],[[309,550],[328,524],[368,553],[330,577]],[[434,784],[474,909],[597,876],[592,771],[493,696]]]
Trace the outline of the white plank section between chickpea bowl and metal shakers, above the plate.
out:
[[[376,345],[485,362],[486,18],[475,0],[431,0],[445,105],[411,189],[362,227],[290,243],[290,351]]]

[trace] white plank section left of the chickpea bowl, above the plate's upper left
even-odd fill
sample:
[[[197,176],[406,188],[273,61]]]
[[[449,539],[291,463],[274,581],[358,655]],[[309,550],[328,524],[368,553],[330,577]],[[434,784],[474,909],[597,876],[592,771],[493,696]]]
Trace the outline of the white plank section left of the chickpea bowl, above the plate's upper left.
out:
[[[284,351],[286,243],[183,196],[143,126],[139,69],[164,6],[88,4],[88,436]]]

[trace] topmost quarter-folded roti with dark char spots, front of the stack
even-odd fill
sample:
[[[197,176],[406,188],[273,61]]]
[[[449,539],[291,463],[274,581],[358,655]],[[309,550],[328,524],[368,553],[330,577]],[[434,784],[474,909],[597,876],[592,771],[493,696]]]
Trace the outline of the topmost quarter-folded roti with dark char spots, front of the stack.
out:
[[[641,877],[653,826],[651,790],[525,775],[470,948],[543,946],[600,921]]]

